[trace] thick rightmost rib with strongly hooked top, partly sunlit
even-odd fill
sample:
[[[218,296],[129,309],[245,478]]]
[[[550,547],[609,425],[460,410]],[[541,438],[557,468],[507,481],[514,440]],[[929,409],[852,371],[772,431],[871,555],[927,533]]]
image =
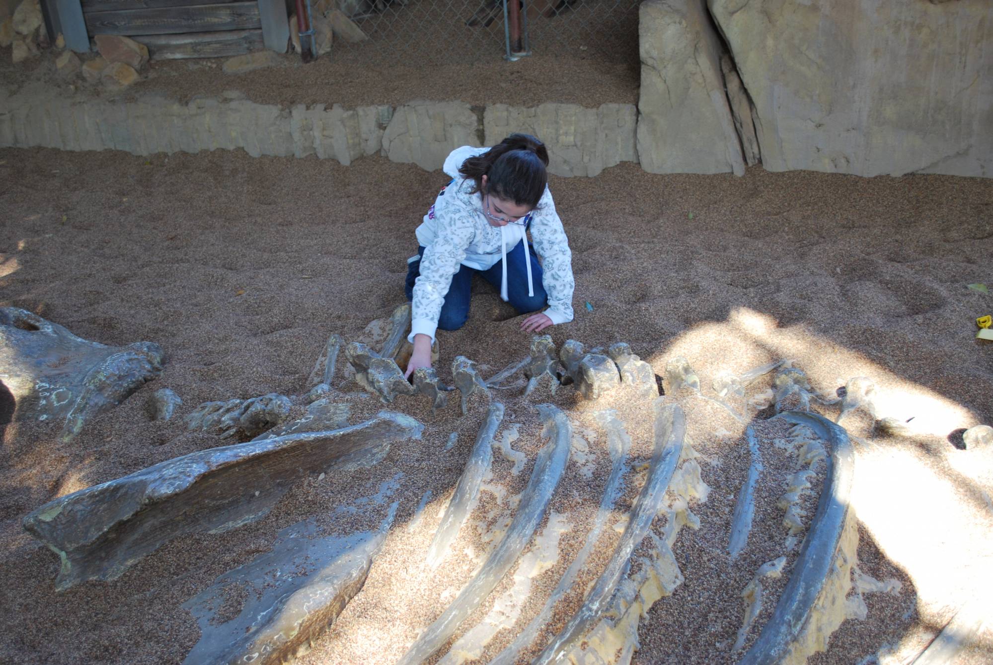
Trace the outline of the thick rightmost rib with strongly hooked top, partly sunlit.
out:
[[[859,534],[849,510],[855,462],[848,434],[815,414],[789,412],[776,417],[811,429],[830,443],[831,454],[817,510],[789,581],[741,665],[804,663],[827,649],[831,633],[849,616],[845,597],[852,588]]]

